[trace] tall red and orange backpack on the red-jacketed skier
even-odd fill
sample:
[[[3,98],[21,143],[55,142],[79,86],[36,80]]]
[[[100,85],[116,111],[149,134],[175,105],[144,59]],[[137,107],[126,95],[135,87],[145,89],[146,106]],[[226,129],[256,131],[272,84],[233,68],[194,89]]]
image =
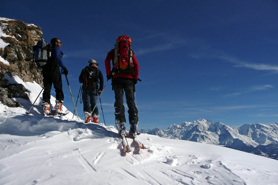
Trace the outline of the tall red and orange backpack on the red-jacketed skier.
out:
[[[115,44],[114,50],[114,66],[113,72],[119,73],[131,73],[133,71],[132,55],[131,50],[131,39],[127,35],[121,35]]]

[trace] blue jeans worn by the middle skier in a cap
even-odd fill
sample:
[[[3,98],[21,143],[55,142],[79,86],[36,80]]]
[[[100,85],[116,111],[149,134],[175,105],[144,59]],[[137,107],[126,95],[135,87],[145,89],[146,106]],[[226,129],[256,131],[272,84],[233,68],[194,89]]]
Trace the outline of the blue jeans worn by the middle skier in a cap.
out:
[[[93,110],[96,101],[97,101],[97,89],[85,89],[83,88],[83,111],[91,113]],[[93,114],[98,115],[98,108],[95,107]]]

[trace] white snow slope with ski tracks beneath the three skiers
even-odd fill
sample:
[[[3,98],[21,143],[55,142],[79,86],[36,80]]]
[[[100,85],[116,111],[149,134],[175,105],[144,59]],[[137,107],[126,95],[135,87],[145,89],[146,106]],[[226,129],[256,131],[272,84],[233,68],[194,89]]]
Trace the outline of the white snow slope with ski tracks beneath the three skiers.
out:
[[[114,126],[71,120],[72,113],[44,117],[42,94],[25,114],[42,88],[19,77],[5,79],[23,84],[30,101],[13,98],[18,108],[0,102],[1,185],[278,184],[277,160],[221,146],[140,134],[147,149],[127,138],[132,151],[124,153]]]

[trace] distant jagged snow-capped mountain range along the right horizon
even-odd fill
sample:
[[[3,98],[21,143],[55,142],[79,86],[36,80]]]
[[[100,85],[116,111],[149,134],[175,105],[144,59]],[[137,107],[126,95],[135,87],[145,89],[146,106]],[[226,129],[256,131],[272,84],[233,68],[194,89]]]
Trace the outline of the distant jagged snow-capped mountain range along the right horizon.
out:
[[[226,146],[278,160],[278,123],[273,125],[254,123],[232,128],[221,122],[213,123],[200,118],[181,125],[171,125],[167,130],[141,129],[140,132],[169,139]]]

